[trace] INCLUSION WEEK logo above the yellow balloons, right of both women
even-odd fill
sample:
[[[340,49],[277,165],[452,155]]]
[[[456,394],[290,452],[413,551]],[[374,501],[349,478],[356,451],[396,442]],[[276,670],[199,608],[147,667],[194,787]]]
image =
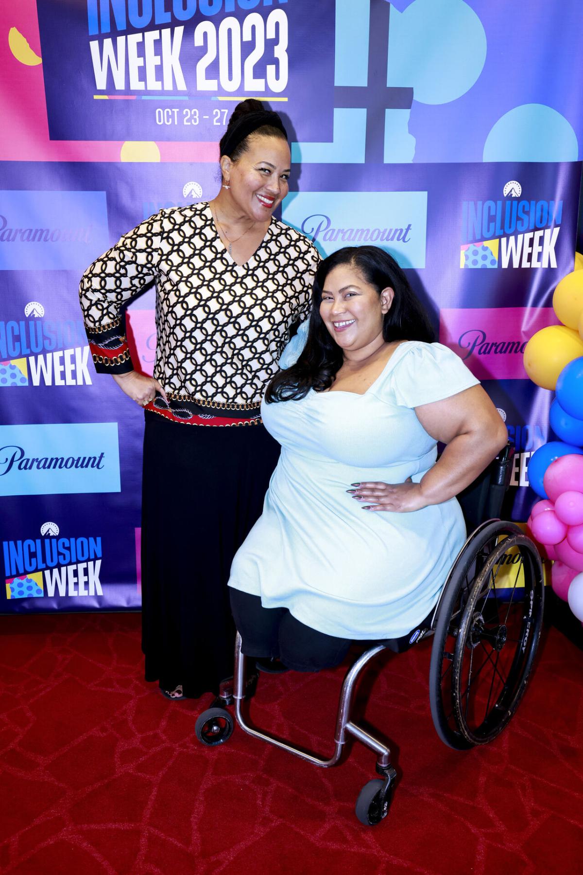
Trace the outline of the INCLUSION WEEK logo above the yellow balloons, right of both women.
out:
[[[504,200],[462,202],[460,267],[556,268],[562,200],[526,200],[516,179]]]

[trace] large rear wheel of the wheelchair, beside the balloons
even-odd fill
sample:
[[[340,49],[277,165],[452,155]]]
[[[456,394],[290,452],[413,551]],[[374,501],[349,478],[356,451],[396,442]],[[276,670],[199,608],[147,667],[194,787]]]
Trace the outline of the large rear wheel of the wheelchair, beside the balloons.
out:
[[[429,675],[435,729],[448,746],[488,743],[517,710],[544,598],[538,551],[520,528],[492,521],[468,539],[441,598]]]

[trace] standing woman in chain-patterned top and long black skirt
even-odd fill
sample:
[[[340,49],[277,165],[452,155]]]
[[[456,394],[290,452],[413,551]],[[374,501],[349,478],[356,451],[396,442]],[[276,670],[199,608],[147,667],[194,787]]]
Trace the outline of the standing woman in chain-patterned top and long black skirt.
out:
[[[280,116],[239,103],[220,141],[217,197],[142,221],[80,283],[96,370],[145,408],[142,650],[146,680],[172,699],[216,691],[233,673],[226,583],[280,449],[260,400],[309,312],[319,260],[273,217],[290,162]],[[152,280],[153,378],[133,370],[121,311]]]

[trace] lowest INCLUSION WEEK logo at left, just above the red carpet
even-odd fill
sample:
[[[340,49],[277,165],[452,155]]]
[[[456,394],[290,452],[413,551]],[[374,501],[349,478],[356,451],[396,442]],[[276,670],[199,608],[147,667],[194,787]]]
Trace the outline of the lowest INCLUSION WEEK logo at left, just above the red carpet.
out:
[[[101,596],[101,537],[59,537],[56,522],[41,537],[3,541],[6,598]]]

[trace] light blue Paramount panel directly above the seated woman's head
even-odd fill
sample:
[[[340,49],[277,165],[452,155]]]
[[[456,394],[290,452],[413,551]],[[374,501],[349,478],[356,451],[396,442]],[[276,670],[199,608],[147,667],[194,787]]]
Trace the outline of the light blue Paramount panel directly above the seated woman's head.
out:
[[[427,192],[294,192],[282,218],[322,255],[344,246],[380,246],[404,268],[424,268]]]

